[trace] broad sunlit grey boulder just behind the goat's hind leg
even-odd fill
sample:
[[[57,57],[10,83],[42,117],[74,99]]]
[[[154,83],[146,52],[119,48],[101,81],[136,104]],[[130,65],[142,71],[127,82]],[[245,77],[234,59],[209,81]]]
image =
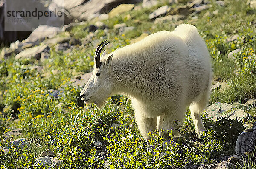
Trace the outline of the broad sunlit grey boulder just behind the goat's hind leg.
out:
[[[227,103],[214,103],[207,107],[205,110],[207,116],[213,121],[217,120],[217,117],[228,117],[230,119],[238,119],[243,121],[250,120],[251,116],[244,112],[242,109],[236,108],[236,106]]]

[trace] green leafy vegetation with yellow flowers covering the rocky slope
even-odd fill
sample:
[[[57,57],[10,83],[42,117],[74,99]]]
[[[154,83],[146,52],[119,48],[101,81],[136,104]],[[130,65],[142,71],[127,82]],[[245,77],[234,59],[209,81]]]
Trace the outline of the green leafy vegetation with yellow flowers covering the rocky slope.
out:
[[[214,80],[227,82],[230,86],[222,92],[213,90],[209,104],[217,101],[244,104],[249,99],[256,99],[256,13],[244,0],[225,2],[226,6],[219,6],[211,1],[211,8],[195,15],[198,20],[192,22],[193,18],[188,16],[184,23],[192,22],[204,38],[212,57]],[[105,20],[108,32],[98,30],[92,40],[98,44],[108,39],[112,46],[106,50],[111,52],[128,45],[131,39],[145,31],[172,31],[175,27],[170,22],[155,25],[154,20],[148,19],[148,14],[165,4],[167,2]],[[175,6],[177,4],[172,5]],[[213,15],[217,9],[218,14]],[[85,38],[89,34],[88,25],[94,22],[77,26],[68,33],[76,39]],[[113,30],[117,23],[126,23],[136,29],[119,35]],[[227,42],[233,34],[238,34],[239,38]],[[93,69],[95,47],[93,43],[75,47],[64,53],[55,51],[53,46],[49,58],[43,62],[15,60],[14,56],[0,61],[0,169],[33,169],[37,155],[46,149],[52,149],[56,157],[64,161],[63,169],[102,168],[105,161],[110,161],[111,169],[161,169],[171,164],[184,167],[191,160],[195,164],[210,163],[223,152],[227,155],[235,153],[234,142],[244,130],[243,122],[228,119],[213,122],[204,115],[203,121],[209,132],[201,139],[202,146],[194,146],[191,140],[196,137],[195,128],[187,110],[183,126],[177,125],[175,129],[179,130],[180,137],[169,145],[169,156],[160,158],[163,139],[156,132],[150,133],[154,138],[150,143],[143,140],[134,121],[131,102],[125,96],[109,98],[102,110],[81,102],[81,88],[74,87],[70,79],[76,73]],[[237,48],[241,51],[228,58],[227,54]],[[43,70],[36,70],[35,65],[42,66]],[[58,90],[58,96],[50,89]],[[245,111],[256,118],[256,108]],[[112,123],[120,126],[111,127]],[[10,142],[17,136],[10,139],[3,136],[15,128],[22,129],[22,137],[27,138],[31,147],[19,149]],[[104,146],[95,147],[96,141],[101,141]],[[152,149],[147,150],[147,144]],[[9,147],[8,153],[4,152],[5,146]],[[244,169],[253,167],[253,160],[244,160],[239,166]]]

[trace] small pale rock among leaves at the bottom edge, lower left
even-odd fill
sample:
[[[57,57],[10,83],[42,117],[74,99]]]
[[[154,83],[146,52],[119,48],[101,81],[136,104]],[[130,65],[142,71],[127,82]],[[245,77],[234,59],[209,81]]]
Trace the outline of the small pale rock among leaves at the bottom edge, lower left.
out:
[[[35,159],[35,166],[42,166],[44,168],[49,168],[49,169],[58,169],[61,167],[63,161],[59,160],[58,158],[54,157],[49,157],[44,156],[44,157],[39,157]]]

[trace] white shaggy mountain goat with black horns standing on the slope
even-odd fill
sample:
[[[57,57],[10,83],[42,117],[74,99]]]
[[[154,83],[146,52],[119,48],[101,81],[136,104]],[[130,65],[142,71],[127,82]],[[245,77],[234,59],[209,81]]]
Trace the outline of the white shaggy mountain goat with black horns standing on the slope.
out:
[[[209,101],[212,68],[195,26],[159,31],[100,57],[109,43],[100,48],[104,42],[96,49],[93,75],[80,93],[85,103],[101,108],[109,96],[126,95],[143,138],[149,139],[148,133],[158,129],[166,142],[169,132],[178,135],[175,121],[183,123],[189,106],[201,137],[205,128],[200,113]]]

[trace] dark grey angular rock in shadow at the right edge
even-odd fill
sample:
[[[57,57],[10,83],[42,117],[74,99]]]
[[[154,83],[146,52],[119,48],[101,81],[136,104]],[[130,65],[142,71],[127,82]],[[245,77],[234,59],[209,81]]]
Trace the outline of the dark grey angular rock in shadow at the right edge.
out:
[[[256,130],[242,132],[236,140],[236,154],[244,155],[245,152],[253,152],[256,143]]]

